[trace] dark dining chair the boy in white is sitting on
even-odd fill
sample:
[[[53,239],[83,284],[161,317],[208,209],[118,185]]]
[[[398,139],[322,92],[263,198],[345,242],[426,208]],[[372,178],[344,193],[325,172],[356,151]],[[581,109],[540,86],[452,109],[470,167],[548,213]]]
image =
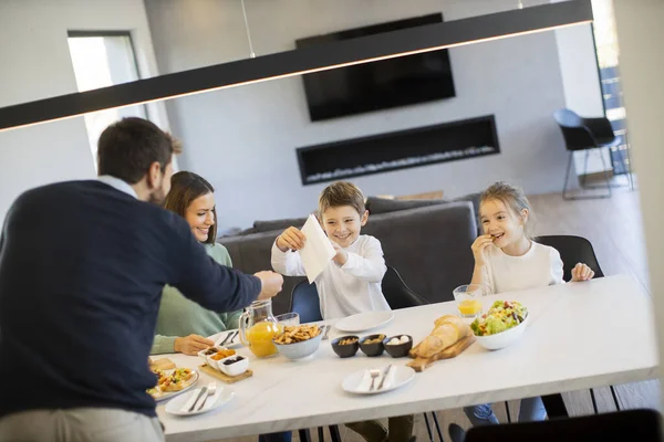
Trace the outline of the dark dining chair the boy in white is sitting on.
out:
[[[391,267],[390,265],[387,265],[387,271],[383,276],[381,287],[387,304],[390,304],[390,308],[394,311],[428,304],[425,298],[413,292],[406,285],[396,269]],[[322,320],[321,306],[315,284],[309,284],[307,281],[302,281],[293,287],[291,294],[291,312],[295,312],[300,315],[300,322],[302,323]],[[432,419],[436,428],[436,433],[438,434],[439,440],[443,441],[443,432],[435,411],[432,411]],[[427,413],[424,413],[424,421],[429,440],[430,442],[434,442],[434,433],[432,432],[432,425]],[[335,428],[335,432],[339,434],[339,428],[336,425],[330,427],[330,433],[334,434],[333,428]],[[302,433],[300,434],[300,438],[302,438]],[[322,429],[319,428],[319,439],[322,441],[321,434]],[[332,440],[334,441],[334,435],[332,435]],[[341,440],[341,438],[339,440]]]

